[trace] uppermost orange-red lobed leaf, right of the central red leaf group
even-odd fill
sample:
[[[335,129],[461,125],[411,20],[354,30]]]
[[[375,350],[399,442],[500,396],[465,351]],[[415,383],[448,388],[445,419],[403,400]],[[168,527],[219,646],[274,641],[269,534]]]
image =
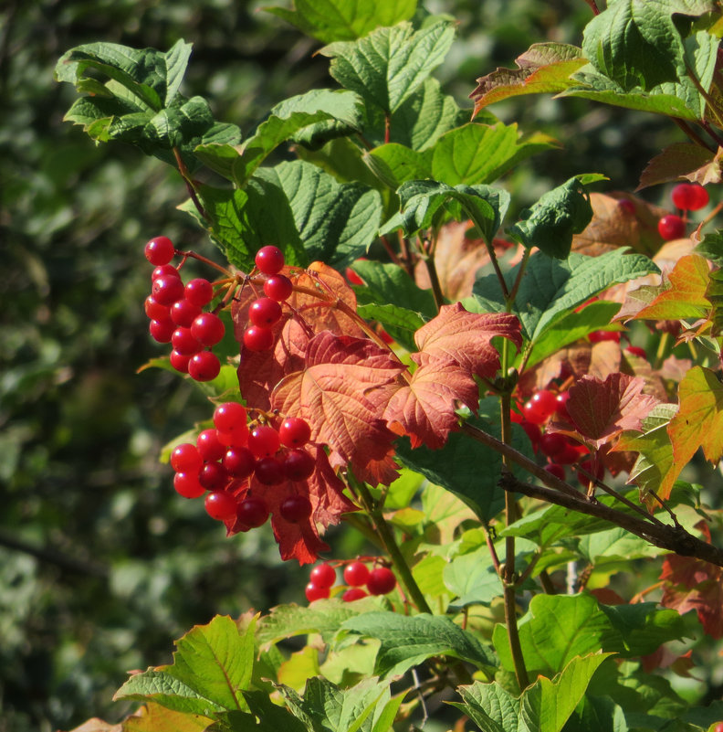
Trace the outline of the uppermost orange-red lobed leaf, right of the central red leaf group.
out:
[[[415,334],[417,348],[430,358],[452,359],[470,374],[493,378],[499,355],[490,341],[496,336],[522,345],[519,320],[512,313],[469,313],[461,302],[443,305],[439,314]]]

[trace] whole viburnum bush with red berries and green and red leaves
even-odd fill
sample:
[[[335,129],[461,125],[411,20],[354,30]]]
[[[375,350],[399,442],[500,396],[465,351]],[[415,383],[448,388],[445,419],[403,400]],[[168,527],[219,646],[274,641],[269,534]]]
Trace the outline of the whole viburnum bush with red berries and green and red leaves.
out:
[[[139,245],[147,366],[209,399],[164,455],[169,490],[203,498],[209,531],[270,524],[282,559],[314,564],[306,600],[218,616],[131,675],[123,729],[721,724],[689,683],[719,683],[720,501],[713,473],[684,470],[723,454],[723,16],[588,4],[582,48],[529,48],[478,80],[471,112],[432,76],[448,17],[271,8],[325,44],[338,87],[245,138],[183,96],[184,41],[60,59],[67,119],[172,164],[217,247]],[[581,173],[506,219],[499,180],[558,143],[487,106],[537,92],[673,118],[688,142],[641,177],[676,184],[669,206]],[[325,556],[340,522],[377,554]]]

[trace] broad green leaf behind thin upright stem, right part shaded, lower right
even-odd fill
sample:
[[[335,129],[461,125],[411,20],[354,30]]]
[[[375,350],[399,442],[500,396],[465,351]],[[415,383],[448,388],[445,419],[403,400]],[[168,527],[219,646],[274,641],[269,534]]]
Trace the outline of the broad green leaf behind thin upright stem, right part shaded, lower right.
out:
[[[652,653],[689,635],[688,626],[676,610],[658,610],[655,602],[612,608],[586,594],[536,595],[519,621],[519,640],[530,673],[556,674],[575,656],[599,650],[623,658]],[[493,642],[502,666],[514,670],[502,625],[495,626]]]

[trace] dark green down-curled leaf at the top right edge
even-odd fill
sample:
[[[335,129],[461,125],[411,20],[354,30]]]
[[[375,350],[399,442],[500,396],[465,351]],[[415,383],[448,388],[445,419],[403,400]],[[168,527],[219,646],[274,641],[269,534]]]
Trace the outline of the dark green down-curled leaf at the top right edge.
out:
[[[676,82],[680,70],[685,73],[686,50],[673,14],[700,16],[713,9],[709,0],[617,2],[585,27],[582,52],[624,91]]]

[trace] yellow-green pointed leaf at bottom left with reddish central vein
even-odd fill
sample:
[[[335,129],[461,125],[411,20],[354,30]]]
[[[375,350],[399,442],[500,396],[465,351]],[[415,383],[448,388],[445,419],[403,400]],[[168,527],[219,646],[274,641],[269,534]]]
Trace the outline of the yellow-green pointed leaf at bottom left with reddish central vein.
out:
[[[246,703],[240,692],[253,672],[255,628],[252,621],[241,635],[227,615],[196,625],[176,641],[171,665],[131,676],[114,698],[152,699],[178,711],[193,707],[194,714],[205,715],[243,709]]]

